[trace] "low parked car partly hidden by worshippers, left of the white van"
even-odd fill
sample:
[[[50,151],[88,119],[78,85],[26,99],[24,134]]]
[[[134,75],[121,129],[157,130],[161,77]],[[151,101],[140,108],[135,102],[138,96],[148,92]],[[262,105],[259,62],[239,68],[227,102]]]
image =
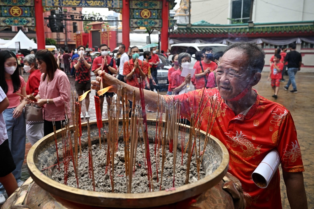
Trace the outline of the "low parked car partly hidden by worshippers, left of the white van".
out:
[[[165,57],[165,55],[156,53],[159,57],[160,63],[157,67],[157,89],[160,91],[164,90],[166,91],[168,89],[169,81],[168,81],[168,70],[172,67],[171,62]],[[141,53],[140,53],[141,55]],[[138,57],[139,60],[143,60],[143,54]]]

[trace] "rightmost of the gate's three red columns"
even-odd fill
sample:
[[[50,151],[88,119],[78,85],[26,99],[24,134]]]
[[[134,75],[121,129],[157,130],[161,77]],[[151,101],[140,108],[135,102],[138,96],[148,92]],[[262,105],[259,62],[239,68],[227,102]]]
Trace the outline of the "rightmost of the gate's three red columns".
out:
[[[161,50],[168,49],[168,28],[169,28],[169,2],[162,0],[162,28],[161,28]]]

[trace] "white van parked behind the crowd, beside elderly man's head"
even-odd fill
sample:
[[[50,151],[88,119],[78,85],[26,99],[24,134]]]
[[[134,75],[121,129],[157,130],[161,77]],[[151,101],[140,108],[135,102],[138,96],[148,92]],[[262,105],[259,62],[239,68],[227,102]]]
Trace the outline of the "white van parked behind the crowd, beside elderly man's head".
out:
[[[225,51],[228,45],[225,44],[206,44],[206,43],[182,43],[182,44],[172,44],[171,45],[171,55],[168,59],[171,61],[173,54],[180,54],[182,52],[187,52],[192,56],[190,68],[192,68],[196,62],[195,52],[202,51],[203,48],[209,46],[213,48],[213,53],[218,51]]]

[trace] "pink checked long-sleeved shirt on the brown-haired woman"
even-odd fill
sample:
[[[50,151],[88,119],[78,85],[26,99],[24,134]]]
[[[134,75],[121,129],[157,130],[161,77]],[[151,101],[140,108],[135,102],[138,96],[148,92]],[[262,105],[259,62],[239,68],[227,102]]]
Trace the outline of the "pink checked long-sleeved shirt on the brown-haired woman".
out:
[[[66,113],[70,118],[71,86],[68,76],[57,69],[52,81],[47,83],[47,76],[44,81],[42,80],[44,75],[44,73],[41,74],[38,93],[41,99],[53,99],[54,102],[54,104],[45,104],[43,106],[44,120],[51,121],[51,118],[55,118],[56,121],[62,121],[65,119]]]

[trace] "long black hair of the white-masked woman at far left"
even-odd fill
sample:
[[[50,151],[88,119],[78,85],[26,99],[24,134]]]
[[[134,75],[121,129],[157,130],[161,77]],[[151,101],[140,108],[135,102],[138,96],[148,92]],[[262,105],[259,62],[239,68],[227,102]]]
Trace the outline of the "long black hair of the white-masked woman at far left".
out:
[[[12,51],[8,51],[8,50],[0,51],[0,86],[5,94],[8,93],[8,84],[5,81],[5,76],[4,76],[4,72],[5,72],[4,62],[7,61],[7,59],[10,57],[14,57],[16,59],[16,56]],[[16,59],[16,62],[18,62],[17,59]],[[16,67],[16,70],[11,75],[11,79],[13,83],[14,92],[16,92],[19,90],[19,88],[21,88],[21,81],[19,79],[19,67]]]

